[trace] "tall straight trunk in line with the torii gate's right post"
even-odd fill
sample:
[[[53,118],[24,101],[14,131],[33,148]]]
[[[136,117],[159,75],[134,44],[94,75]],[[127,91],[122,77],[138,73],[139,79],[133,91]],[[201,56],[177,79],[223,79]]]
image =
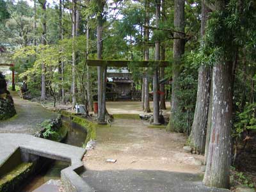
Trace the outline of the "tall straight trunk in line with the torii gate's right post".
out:
[[[159,28],[161,1],[156,0],[156,27]],[[160,42],[155,42],[155,60],[160,61]],[[154,68],[153,75],[153,118],[154,124],[159,124],[159,93],[158,93],[158,66]]]

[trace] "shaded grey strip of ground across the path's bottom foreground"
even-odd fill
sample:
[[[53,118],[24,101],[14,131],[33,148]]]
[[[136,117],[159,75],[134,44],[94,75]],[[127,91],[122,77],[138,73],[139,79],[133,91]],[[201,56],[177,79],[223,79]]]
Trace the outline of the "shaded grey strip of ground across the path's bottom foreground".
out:
[[[87,170],[83,179],[97,192],[227,192],[208,188],[198,174],[158,170]]]

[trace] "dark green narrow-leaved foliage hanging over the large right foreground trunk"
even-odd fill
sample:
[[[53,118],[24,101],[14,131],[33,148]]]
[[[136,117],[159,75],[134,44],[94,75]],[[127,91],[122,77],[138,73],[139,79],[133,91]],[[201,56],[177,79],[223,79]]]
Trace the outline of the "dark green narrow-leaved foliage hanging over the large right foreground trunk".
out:
[[[204,47],[195,56],[197,63],[216,64],[220,60],[230,61],[235,57],[237,47],[255,45],[256,3],[243,1],[244,9],[237,1],[228,3],[227,9],[212,12],[207,21]],[[253,42],[253,43],[252,43]]]

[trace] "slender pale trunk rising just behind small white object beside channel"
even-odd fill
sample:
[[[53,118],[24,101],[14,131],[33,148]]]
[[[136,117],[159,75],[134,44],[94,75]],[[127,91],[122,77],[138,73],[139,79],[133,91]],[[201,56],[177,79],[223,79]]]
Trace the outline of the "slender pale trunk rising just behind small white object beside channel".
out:
[[[76,0],[72,0],[72,109],[76,106]]]

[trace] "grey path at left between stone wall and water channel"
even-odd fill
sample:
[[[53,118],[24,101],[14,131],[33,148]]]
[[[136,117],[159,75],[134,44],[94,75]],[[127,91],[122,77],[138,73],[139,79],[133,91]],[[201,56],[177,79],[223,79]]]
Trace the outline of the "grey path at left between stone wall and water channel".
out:
[[[0,133],[26,133],[34,134],[38,131],[40,124],[45,119],[56,116],[51,111],[44,109],[40,104],[20,99],[16,92],[12,92],[17,115],[10,120],[0,122]]]

